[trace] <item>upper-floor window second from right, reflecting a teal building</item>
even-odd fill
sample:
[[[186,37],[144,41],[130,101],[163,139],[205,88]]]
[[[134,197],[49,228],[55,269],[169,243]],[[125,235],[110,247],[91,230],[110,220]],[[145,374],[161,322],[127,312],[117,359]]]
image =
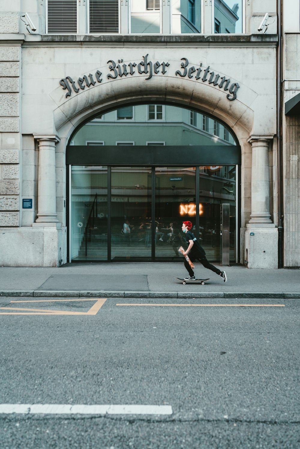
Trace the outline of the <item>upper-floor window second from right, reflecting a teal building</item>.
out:
[[[201,0],[172,0],[172,33],[201,33]]]

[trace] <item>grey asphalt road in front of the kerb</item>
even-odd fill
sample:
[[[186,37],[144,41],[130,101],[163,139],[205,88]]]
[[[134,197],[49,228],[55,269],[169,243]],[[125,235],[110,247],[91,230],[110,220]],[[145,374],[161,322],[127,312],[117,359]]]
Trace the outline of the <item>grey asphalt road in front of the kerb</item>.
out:
[[[173,413],[2,413],[1,449],[299,449],[299,299],[59,299],[0,298],[0,404]]]

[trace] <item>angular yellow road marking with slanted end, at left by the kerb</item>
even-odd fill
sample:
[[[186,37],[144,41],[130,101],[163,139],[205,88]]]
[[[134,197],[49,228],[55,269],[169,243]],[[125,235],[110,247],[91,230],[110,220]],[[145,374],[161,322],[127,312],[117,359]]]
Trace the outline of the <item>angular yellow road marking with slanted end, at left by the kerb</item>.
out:
[[[76,301],[93,301],[94,299],[76,299]],[[11,303],[27,303],[27,302],[48,302],[47,299],[38,299],[36,301],[10,301]],[[72,299],[49,299],[49,302],[72,301]],[[97,299],[96,303],[87,312],[70,312],[63,310],[49,309],[31,309],[18,307],[0,307],[0,310],[22,310],[22,312],[0,312],[0,315],[96,315],[99,309],[105,303],[106,298]]]

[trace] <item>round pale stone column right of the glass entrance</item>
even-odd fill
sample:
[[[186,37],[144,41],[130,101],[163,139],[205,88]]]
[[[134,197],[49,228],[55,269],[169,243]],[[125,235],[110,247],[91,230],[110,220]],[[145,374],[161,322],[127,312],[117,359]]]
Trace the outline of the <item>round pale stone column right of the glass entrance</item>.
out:
[[[251,219],[249,223],[272,223],[270,214],[269,139],[273,136],[250,136],[252,144]]]

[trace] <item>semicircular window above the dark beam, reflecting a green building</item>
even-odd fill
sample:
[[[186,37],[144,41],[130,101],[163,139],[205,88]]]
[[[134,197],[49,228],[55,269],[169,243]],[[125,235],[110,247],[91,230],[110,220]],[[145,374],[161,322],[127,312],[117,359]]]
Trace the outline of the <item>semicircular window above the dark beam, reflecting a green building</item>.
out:
[[[236,145],[230,128],[195,110],[169,105],[137,105],[131,106],[131,117],[130,120],[117,119],[116,110],[102,114],[101,119],[94,118],[78,129],[72,145],[88,145],[88,142],[147,145],[153,141],[180,146]]]

